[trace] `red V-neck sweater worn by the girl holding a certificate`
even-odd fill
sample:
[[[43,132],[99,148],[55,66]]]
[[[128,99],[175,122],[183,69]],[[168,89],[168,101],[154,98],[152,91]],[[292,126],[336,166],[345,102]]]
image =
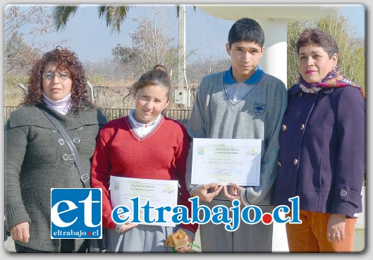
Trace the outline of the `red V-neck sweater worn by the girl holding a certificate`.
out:
[[[102,222],[115,229],[111,219],[110,176],[153,180],[178,180],[178,204],[190,211],[190,194],[185,186],[185,166],[190,140],[185,127],[162,117],[145,137],[138,137],[128,116],[106,123],[97,137],[91,168],[91,187],[102,188]],[[195,233],[198,225],[181,224]]]

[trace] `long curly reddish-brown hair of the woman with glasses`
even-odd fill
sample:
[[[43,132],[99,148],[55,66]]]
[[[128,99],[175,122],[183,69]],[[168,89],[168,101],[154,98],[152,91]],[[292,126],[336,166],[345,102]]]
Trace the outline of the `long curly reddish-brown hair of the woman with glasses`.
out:
[[[71,75],[71,81],[73,82],[71,87],[71,110],[79,113],[83,109],[92,108],[93,104],[88,95],[87,78],[85,77],[82,63],[75,52],[60,46],[45,53],[32,66],[27,94],[23,104],[36,106],[42,103],[42,73],[44,72],[45,64],[51,61],[55,63],[56,70],[67,70]]]

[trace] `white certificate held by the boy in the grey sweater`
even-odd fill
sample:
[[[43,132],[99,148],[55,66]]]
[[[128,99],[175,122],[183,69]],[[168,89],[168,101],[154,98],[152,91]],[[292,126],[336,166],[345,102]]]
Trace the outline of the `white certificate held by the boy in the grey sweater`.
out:
[[[258,186],[262,140],[194,138],[192,184]]]

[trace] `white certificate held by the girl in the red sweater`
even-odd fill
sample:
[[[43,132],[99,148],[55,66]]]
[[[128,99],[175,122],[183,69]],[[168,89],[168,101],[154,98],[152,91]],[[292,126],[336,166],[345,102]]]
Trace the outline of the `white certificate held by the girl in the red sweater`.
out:
[[[159,219],[159,211],[156,208],[170,206],[173,209],[177,206],[177,180],[149,180],[110,176],[110,197],[113,209],[116,206],[126,206],[130,210],[123,214],[123,219],[128,216],[130,218],[139,216],[142,225],[175,226],[172,221],[172,211],[163,211],[164,223],[159,221],[149,222]],[[138,199],[134,199],[136,197]],[[145,206],[146,204],[148,206]],[[144,221],[145,218],[150,221]]]

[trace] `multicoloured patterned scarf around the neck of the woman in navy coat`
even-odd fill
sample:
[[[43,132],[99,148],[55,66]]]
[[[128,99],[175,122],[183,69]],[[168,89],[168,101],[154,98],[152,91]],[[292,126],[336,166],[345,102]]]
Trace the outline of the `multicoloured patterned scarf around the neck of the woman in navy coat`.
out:
[[[336,66],[333,70],[331,70],[325,78],[320,80],[317,83],[307,83],[303,80],[302,75],[299,78],[299,87],[302,89],[303,92],[307,93],[316,93],[319,92],[320,89],[323,88],[330,88],[330,87],[357,87],[360,89],[362,97],[365,98],[365,89],[357,85],[355,82],[348,80],[340,71],[338,66]]]

